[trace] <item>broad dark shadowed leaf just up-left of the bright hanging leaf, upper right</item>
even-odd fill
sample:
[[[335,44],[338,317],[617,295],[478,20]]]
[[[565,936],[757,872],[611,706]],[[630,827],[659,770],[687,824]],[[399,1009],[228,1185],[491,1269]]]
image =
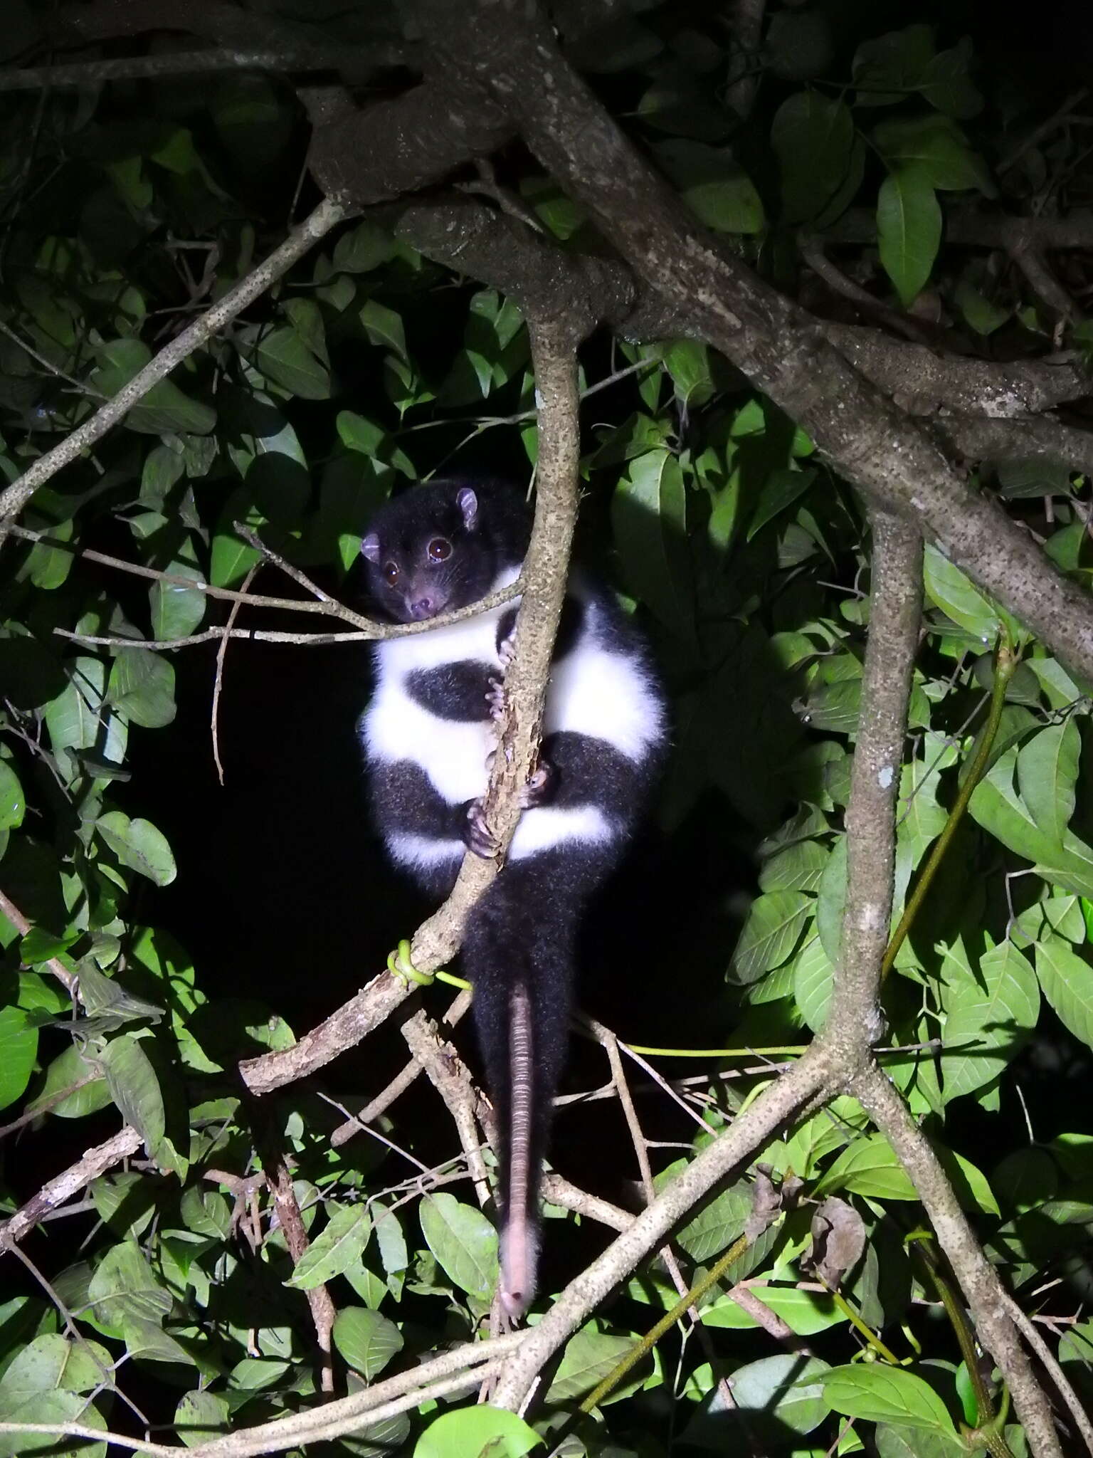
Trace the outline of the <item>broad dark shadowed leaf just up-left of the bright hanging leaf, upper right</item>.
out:
[[[797,92],[771,122],[781,171],[783,217],[816,217],[842,188],[854,159],[854,117],[845,102],[816,90]]]

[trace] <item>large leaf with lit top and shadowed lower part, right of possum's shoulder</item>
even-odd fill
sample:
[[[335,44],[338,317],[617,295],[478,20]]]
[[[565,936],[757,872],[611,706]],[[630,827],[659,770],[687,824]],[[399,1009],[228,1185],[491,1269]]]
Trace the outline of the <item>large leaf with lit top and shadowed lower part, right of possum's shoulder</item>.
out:
[[[630,590],[662,623],[691,639],[692,572],[679,461],[667,451],[649,451],[631,461],[615,487],[611,519]]]

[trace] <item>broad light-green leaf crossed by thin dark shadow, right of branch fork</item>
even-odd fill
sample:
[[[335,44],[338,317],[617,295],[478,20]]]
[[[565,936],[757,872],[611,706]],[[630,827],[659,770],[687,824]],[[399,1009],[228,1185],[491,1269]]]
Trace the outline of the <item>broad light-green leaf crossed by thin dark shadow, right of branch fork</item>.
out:
[[[1036,1026],[1041,999],[1032,968],[1011,942],[984,952],[978,975],[965,974],[953,959],[946,959],[941,975],[941,1076],[949,1104],[991,1083],[1006,1069]]]

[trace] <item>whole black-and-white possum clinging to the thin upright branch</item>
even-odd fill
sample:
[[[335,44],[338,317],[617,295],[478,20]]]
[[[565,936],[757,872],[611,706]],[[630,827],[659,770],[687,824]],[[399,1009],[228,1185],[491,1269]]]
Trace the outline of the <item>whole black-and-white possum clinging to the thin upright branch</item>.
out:
[[[396,623],[466,607],[520,572],[529,512],[512,486],[437,481],[376,515],[361,542],[375,611]],[[392,859],[437,900],[466,847],[488,854],[487,761],[514,604],[380,642],[361,719],[372,802]],[[462,958],[500,1128],[501,1301],[535,1290],[538,1187],[565,1056],[576,937],[615,866],[665,744],[646,646],[612,595],[576,572],[546,691],[538,770],[506,863],[475,905]]]

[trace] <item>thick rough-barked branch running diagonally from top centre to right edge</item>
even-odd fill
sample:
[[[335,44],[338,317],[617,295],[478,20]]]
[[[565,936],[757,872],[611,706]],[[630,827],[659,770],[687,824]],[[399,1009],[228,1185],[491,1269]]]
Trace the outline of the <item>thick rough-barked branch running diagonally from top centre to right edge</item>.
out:
[[[1093,682],[1093,599],[973,491],[931,434],[861,376],[794,305],[717,248],[565,64],[517,0],[423,0],[437,47],[503,99],[546,168],[669,300],[698,306],[720,348],[816,440],[850,481],[911,516],[982,588]]]

